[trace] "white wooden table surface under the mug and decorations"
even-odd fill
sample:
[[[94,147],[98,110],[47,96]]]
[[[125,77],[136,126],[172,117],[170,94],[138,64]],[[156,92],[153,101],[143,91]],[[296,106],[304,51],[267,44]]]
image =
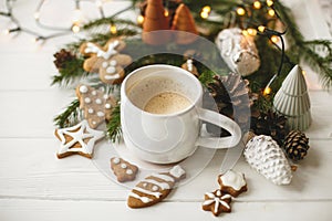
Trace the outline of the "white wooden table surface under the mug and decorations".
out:
[[[22,1],[18,10],[28,12],[35,8],[31,4]],[[315,0],[299,4],[310,9],[309,14],[295,11],[305,38],[331,38],[320,23]],[[32,24],[29,19],[27,23]],[[313,28],[313,21],[319,27]],[[201,202],[205,192],[218,187],[224,151],[164,202],[139,210],[126,206],[129,190],[103,176],[91,160],[80,156],[56,159],[59,141],[53,136],[52,118],[71,102],[72,91],[50,86],[51,75],[56,73],[52,55],[69,39],[51,40],[43,46],[30,39],[27,34],[0,36],[1,221],[215,219],[201,210]],[[232,212],[220,215],[220,220],[332,219],[332,95],[320,88],[314,73],[307,72],[313,117],[307,130],[311,146],[308,157],[300,162],[291,185],[284,187],[267,181],[241,158],[235,169],[246,173],[249,191],[236,199]]]

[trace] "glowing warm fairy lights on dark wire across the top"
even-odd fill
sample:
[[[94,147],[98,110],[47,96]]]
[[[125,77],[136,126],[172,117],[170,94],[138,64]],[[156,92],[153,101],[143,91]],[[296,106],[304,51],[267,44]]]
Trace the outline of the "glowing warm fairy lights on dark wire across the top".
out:
[[[83,1],[94,3],[94,7],[97,8],[98,17],[101,19],[106,18],[105,11],[104,11],[104,4],[107,2],[107,0],[72,0],[74,2],[74,7],[72,9],[73,12],[72,12],[71,25],[70,27],[50,25],[50,24],[44,23],[41,18],[41,12],[42,12],[43,7],[46,1],[48,0],[40,0],[34,13],[33,13],[33,18],[34,18],[34,21],[38,27],[45,29],[45,30],[54,31],[55,33],[44,35],[32,29],[21,25],[21,22],[17,19],[17,17],[13,12],[13,8],[14,8],[13,6],[14,6],[15,0],[6,0],[6,10],[3,10],[3,11],[0,10],[0,17],[8,18],[11,21],[11,23],[13,24],[12,28],[6,29],[2,32],[4,34],[13,34],[13,33],[19,33],[19,32],[24,32],[24,33],[28,33],[33,36],[33,42],[38,42],[38,41],[44,42],[44,41],[46,41],[49,39],[53,39],[53,38],[59,38],[59,36],[68,35],[68,34],[76,34],[82,30],[82,27],[84,25],[84,21],[82,19],[84,17],[83,15],[84,12],[82,11],[82,7],[81,7]],[[169,2],[169,0],[165,1],[165,12],[164,12],[165,17],[169,15],[168,2]],[[241,27],[242,34],[245,36],[247,36],[247,35],[267,36],[270,39],[271,43],[281,51],[281,61],[280,61],[279,70],[273,75],[273,77],[270,80],[268,85],[266,86],[266,88],[263,91],[263,94],[266,94],[266,95],[271,93],[270,85],[272,84],[274,78],[280,74],[282,64],[284,63],[284,60],[286,60],[284,40],[282,36],[286,33],[286,31],[278,32],[276,30],[270,30],[270,29],[268,29],[267,24],[261,24],[261,23],[252,21],[251,15],[252,15],[252,11],[255,11],[255,10],[264,10],[268,18],[270,18],[271,20],[278,18],[281,21],[277,11],[273,8],[273,3],[274,3],[273,0],[255,0],[255,1],[243,0],[243,4],[238,4],[234,9],[234,11],[231,11],[231,13],[230,13],[230,14],[235,14],[235,17],[237,17],[237,18],[247,18],[245,20],[245,21],[247,21],[246,25]],[[122,13],[126,10],[129,10],[129,9],[133,9],[133,8],[129,7],[127,9],[124,9],[124,10],[117,12],[116,15],[118,15],[120,13]],[[203,20],[208,20],[210,18],[210,15],[212,14],[212,11],[214,10],[212,10],[211,6],[204,6],[199,11],[199,15]],[[144,14],[138,14],[136,22],[137,22],[137,24],[142,25],[144,23],[144,20],[145,20]],[[248,21],[250,21],[250,22],[248,22]],[[117,32],[116,25],[114,23],[110,24],[110,31],[111,31],[111,33]]]

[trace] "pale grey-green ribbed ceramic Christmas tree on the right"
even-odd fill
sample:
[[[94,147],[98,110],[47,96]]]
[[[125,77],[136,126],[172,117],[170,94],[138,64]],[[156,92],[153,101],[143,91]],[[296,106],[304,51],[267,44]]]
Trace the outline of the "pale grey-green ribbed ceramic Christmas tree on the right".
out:
[[[290,129],[305,130],[311,124],[310,99],[303,72],[295,65],[277,92],[274,109],[288,118]]]

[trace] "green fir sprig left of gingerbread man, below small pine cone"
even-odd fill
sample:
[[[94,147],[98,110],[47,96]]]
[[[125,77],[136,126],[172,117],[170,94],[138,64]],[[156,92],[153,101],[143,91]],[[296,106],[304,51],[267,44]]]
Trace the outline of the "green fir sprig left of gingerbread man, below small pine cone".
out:
[[[81,57],[75,57],[65,61],[63,66],[59,69],[59,75],[54,75],[52,78],[51,85],[68,85],[73,80],[77,77],[83,77],[87,75],[87,73],[83,70],[84,60]]]

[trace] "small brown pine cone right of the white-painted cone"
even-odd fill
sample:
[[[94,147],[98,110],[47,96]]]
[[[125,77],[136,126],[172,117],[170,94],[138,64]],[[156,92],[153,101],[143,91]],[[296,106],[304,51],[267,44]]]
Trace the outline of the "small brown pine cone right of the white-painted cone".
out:
[[[309,138],[304,133],[299,130],[291,130],[283,144],[283,149],[286,155],[292,160],[301,160],[308,152],[309,149]]]

